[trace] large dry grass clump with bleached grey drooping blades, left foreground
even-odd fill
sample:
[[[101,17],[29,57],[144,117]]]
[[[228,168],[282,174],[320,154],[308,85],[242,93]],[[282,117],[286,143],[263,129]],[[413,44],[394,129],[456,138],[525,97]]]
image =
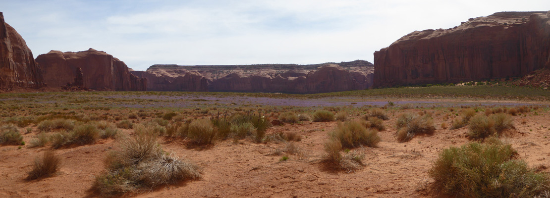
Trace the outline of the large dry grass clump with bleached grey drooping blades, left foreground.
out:
[[[151,190],[159,185],[200,178],[199,168],[162,151],[153,133],[121,138],[119,152],[105,159],[106,171],[96,176],[93,188],[101,196],[119,196]]]

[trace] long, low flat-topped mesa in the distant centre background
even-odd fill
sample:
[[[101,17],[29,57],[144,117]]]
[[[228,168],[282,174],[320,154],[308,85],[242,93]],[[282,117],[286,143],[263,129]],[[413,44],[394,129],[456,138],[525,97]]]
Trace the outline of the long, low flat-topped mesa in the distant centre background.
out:
[[[151,91],[232,91],[311,94],[367,89],[373,65],[367,61],[339,64],[152,65],[131,72],[147,79]]]

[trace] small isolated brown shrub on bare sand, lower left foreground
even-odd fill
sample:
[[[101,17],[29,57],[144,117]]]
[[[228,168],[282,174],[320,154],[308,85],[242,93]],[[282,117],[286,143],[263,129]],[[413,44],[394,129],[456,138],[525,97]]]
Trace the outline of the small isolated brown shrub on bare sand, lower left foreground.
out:
[[[61,165],[61,157],[57,156],[53,151],[46,151],[42,158],[36,158],[32,163],[32,170],[29,172],[27,179],[38,179],[48,177],[59,170]]]

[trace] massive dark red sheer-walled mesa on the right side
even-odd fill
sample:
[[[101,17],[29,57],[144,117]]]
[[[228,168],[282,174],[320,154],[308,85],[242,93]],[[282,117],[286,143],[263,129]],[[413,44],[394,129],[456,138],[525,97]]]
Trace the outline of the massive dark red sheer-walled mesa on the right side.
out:
[[[415,31],[376,51],[375,87],[523,76],[550,67],[550,12],[501,12]]]

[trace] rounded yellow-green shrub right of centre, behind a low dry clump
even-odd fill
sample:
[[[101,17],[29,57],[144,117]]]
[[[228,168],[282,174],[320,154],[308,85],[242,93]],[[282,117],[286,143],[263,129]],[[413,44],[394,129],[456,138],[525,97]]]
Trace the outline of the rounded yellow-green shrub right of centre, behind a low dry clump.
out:
[[[338,123],[330,136],[340,141],[345,148],[353,148],[360,145],[376,147],[376,144],[380,141],[378,131],[366,129],[361,123],[356,121]]]

